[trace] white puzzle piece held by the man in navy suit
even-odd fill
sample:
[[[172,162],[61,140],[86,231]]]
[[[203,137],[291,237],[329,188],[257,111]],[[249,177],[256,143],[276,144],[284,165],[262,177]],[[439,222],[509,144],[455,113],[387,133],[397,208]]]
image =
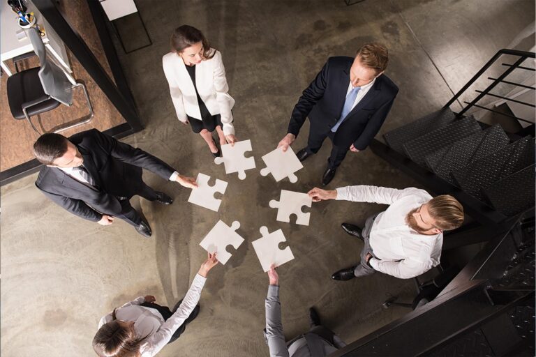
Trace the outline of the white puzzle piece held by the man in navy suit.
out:
[[[288,177],[290,182],[295,183],[298,178],[294,173],[304,167],[290,146],[285,152],[283,152],[283,148],[275,149],[262,156],[262,160],[265,162],[266,167],[260,170],[260,174],[262,176],[271,174],[276,182]]]

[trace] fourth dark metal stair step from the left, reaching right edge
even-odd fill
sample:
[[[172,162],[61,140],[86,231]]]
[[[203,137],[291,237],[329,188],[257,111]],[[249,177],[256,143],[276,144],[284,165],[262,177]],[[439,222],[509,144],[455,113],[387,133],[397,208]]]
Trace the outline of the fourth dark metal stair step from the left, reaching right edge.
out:
[[[480,160],[452,172],[454,182],[468,194],[484,202],[486,188],[514,172],[534,164],[534,139],[530,136],[505,146]]]

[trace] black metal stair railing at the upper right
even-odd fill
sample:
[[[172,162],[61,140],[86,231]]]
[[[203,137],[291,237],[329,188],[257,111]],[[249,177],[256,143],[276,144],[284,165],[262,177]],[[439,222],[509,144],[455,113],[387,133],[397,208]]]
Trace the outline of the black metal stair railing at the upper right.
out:
[[[533,86],[526,86],[525,84],[521,84],[521,83],[516,83],[516,82],[510,82],[510,81],[507,81],[505,80],[505,78],[512,72],[514,72],[514,70],[516,69],[519,69],[519,70],[530,70],[530,71],[535,71],[535,68],[530,68],[530,67],[526,67],[526,66],[521,66],[521,64],[526,60],[526,59],[533,59],[535,58],[535,53],[534,52],[526,52],[526,51],[518,51],[518,50],[507,50],[507,49],[502,49],[500,51],[498,51],[495,56],[491,57],[491,59],[477,72],[477,74],[475,76],[473,76],[469,82],[466,83],[465,86],[463,86],[462,89],[460,89],[458,91],[458,93],[456,93],[454,95],[454,97],[451,98],[451,100],[449,100],[449,102],[447,102],[447,104],[445,105],[445,107],[450,107],[450,105],[452,105],[452,103],[454,103],[456,100],[458,100],[458,98],[464,93],[466,92],[469,87],[474,84],[485,72],[486,70],[488,70],[491,66],[493,66],[494,63],[496,63],[496,61],[498,59],[500,59],[501,56],[503,55],[510,55],[510,56],[516,56],[517,57],[517,60],[511,64],[511,63],[501,63],[502,66],[505,66],[507,67],[507,69],[502,73],[502,75],[498,76],[497,78],[493,78],[493,77],[487,77],[487,79],[493,81],[491,82],[491,84],[489,84],[489,86],[487,86],[486,89],[484,89],[483,91],[480,91],[480,90],[476,90],[475,92],[479,93],[478,96],[471,100],[470,102],[467,102],[467,101],[464,101],[464,103],[466,104],[465,107],[463,107],[463,109],[461,109],[460,112],[458,112],[456,114],[457,117],[461,117],[463,116],[463,114],[465,112],[467,112],[471,107],[477,107],[477,108],[480,108],[480,109],[485,109],[489,112],[494,112],[494,113],[498,113],[498,114],[502,114],[502,115],[505,115],[505,116],[509,116],[511,117],[512,119],[516,119],[516,120],[519,120],[519,121],[525,121],[525,122],[528,122],[528,123],[533,123],[532,121],[528,121],[526,119],[523,119],[523,118],[519,118],[517,116],[514,116],[514,115],[510,115],[510,114],[505,114],[505,113],[502,113],[502,112],[498,112],[496,110],[493,110],[491,108],[488,108],[488,107],[485,107],[484,105],[477,105],[477,102],[479,102],[479,100],[481,100],[482,98],[484,98],[485,96],[492,96],[492,97],[496,97],[496,98],[501,98],[503,100],[509,100],[509,101],[512,101],[512,102],[516,102],[518,104],[521,104],[521,105],[527,105],[529,107],[535,107],[535,105],[531,104],[531,103],[528,103],[528,102],[523,102],[521,100],[514,100],[512,98],[506,98],[504,96],[499,96],[498,94],[495,94],[495,93],[490,93],[490,91],[492,89],[494,89],[497,84],[499,83],[504,83],[504,84],[509,84],[509,85],[512,85],[512,86],[519,86],[521,88],[525,88],[525,89],[530,89],[530,90],[535,90],[535,87]]]

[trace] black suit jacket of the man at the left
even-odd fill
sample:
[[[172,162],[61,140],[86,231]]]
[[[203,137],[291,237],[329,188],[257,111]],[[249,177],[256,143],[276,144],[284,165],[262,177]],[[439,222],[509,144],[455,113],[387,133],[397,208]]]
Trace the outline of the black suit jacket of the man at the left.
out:
[[[175,171],[170,165],[141,149],[118,142],[96,129],[79,132],[69,138],[84,158],[84,167],[98,187],[85,185],[57,167],[45,166],[36,186],[70,213],[94,222],[102,214],[117,215],[121,204],[117,197],[132,197],[142,187],[142,168],[163,179]]]

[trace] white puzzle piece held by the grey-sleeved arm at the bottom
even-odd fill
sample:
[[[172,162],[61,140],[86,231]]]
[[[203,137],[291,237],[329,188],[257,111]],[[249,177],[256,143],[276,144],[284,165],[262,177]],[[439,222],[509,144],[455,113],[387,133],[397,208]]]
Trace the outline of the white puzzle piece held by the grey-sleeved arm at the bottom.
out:
[[[281,229],[268,233],[267,227],[262,226],[260,227],[259,231],[260,234],[262,234],[262,238],[251,242],[251,244],[253,244],[253,248],[255,249],[255,253],[257,253],[260,265],[265,272],[269,270],[271,264],[281,266],[287,261],[294,259],[294,255],[292,255],[292,250],[290,250],[290,247],[287,247],[283,250],[279,249],[278,247],[279,243],[287,241]]]

